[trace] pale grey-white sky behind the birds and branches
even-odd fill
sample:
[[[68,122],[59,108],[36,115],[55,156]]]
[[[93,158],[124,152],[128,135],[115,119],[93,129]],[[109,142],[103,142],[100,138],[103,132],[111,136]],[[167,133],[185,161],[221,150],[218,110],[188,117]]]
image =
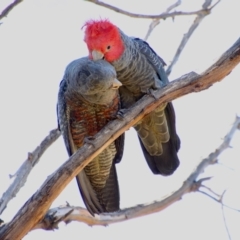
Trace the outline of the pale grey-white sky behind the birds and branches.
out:
[[[145,14],[163,12],[174,1],[148,0],[104,2],[128,11]],[[131,5],[129,3],[131,2]],[[194,3],[193,3],[194,2]],[[198,10],[203,1],[183,0],[179,10]],[[1,0],[0,9],[10,3]],[[240,36],[238,0],[222,0],[198,27],[174,67],[170,80],[208,68]],[[1,10],[0,10],[1,11]],[[48,132],[57,126],[56,101],[59,82],[66,65],[87,54],[83,42],[84,22],[90,18],[109,18],[126,34],[144,38],[151,20],[130,18],[83,0],[25,0],[0,25],[0,197],[12,180],[27,153],[35,149]],[[195,16],[161,21],[148,42],[170,63],[184,33]],[[181,138],[181,165],[170,177],[156,176],[149,170],[134,130],[126,133],[125,152],[117,165],[121,208],[160,199],[181,186],[196,165],[222,141],[239,114],[240,67],[210,89],[175,100],[177,131]],[[221,165],[209,167],[203,176],[215,176],[209,186],[221,193],[226,187],[226,204],[240,209],[237,183],[240,172],[240,134],[233,148],[220,157]],[[31,172],[24,188],[7,206],[1,216],[6,222],[41,186],[48,175],[68,159],[62,138],[59,138]],[[227,167],[226,167],[227,166]],[[53,202],[84,206],[73,180]],[[240,215],[226,209],[226,220],[232,239],[240,238]],[[185,195],[168,209],[113,224],[89,227],[83,223],[60,224],[59,230],[30,232],[24,240],[38,239],[218,239],[226,240],[221,206],[200,193]]]

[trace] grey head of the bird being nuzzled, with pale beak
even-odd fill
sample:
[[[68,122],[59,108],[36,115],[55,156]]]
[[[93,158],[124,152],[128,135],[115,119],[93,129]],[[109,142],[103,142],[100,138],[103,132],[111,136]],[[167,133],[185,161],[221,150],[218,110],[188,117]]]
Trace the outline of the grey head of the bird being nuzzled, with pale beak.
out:
[[[67,92],[87,102],[107,105],[116,96],[122,85],[116,78],[114,67],[105,60],[90,60],[83,57],[71,62],[64,74]]]

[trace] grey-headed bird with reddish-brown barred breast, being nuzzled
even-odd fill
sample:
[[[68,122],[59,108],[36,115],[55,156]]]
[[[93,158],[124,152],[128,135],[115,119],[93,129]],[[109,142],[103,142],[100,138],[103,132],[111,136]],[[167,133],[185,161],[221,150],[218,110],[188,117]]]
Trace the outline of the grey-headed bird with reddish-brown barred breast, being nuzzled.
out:
[[[82,57],[68,64],[59,86],[57,118],[69,156],[116,118],[121,107],[121,85],[114,67],[104,60]],[[92,215],[119,210],[115,164],[121,161],[123,150],[124,134],[76,176],[82,199]]]

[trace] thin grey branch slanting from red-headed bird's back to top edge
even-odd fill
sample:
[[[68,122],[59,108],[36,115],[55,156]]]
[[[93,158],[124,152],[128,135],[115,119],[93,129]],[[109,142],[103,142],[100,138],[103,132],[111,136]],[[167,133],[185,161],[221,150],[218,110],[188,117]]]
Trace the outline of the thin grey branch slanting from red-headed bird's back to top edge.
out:
[[[171,74],[173,66],[178,61],[184,47],[186,46],[188,40],[190,39],[190,37],[192,36],[192,34],[196,30],[196,28],[199,26],[199,24],[202,22],[202,20],[211,13],[211,10],[220,2],[220,0],[217,3],[215,3],[212,7],[209,7],[211,2],[212,1],[205,0],[204,4],[202,5],[202,7],[203,7],[202,10],[208,10],[208,11],[203,11],[203,12],[200,12],[199,14],[197,14],[197,17],[194,19],[188,32],[183,35],[182,41],[177,48],[177,51],[173,57],[173,60],[166,70],[166,73],[168,76]]]

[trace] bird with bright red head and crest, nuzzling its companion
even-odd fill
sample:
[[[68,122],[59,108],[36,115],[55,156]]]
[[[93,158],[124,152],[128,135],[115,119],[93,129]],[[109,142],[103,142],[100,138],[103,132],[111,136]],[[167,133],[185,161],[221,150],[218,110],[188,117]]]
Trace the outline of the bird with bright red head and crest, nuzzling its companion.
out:
[[[108,19],[90,19],[83,25],[89,59],[105,60],[114,66],[121,104],[127,109],[143,95],[169,82],[163,59],[140,38],[127,36]],[[178,168],[181,141],[176,132],[172,102],[163,103],[135,126],[146,162],[154,174],[168,176]]]

